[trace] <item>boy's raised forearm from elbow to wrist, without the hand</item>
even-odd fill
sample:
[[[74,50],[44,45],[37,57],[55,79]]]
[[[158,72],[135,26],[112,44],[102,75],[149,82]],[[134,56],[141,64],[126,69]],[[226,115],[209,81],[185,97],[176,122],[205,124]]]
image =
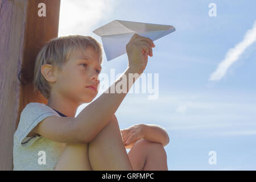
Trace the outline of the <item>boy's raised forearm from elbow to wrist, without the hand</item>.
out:
[[[106,124],[110,121],[113,117],[115,111],[117,111],[119,105],[125,98],[127,92],[137,80],[137,77],[130,77],[129,80],[129,73],[134,73],[133,69],[127,68],[126,71],[117,79],[108,88],[108,93],[103,93],[100,97],[98,97],[95,101],[91,104],[86,106],[79,115],[75,118],[75,124],[77,125],[79,138],[85,138],[85,142],[91,142],[94,137],[106,126]],[[117,93],[114,91],[112,93],[111,88],[115,88],[122,79],[126,77],[126,92],[125,93]],[[129,81],[131,82],[129,85]],[[123,85],[124,86],[124,85]],[[118,87],[117,87],[118,88]],[[86,122],[85,122],[86,118]],[[86,136],[85,136],[86,135]]]

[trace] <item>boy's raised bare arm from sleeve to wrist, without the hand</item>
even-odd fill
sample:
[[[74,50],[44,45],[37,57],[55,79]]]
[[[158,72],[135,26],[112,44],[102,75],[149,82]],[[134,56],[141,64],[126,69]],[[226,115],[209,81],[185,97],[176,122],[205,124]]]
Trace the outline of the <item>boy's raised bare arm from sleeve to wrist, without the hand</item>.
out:
[[[125,98],[127,92],[138,77],[131,77],[129,87],[129,73],[133,73],[131,68],[126,71],[112,84],[117,85],[123,77],[127,77],[127,90],[125,93],[103,93],[97,100],[86,106],[76,118],[50,116],[43,119],[31,133],[39,134],[50,140],[63,143],[89,143],[108,124],[110,119],[115,117],[119,105]]]

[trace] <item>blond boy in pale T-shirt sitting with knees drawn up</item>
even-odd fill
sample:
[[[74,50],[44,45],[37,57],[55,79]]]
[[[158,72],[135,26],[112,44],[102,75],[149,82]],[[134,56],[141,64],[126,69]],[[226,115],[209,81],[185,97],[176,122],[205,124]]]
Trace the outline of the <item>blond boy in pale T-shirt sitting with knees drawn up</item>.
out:
[[[126,45],[128,67],[112,86],[126,77],[128,92],[128,74],[141,75],[152,47],[152,40],[134,34]],[[48,104],[23,109],[14,134],[14,170],[168,170],[164,129],[140,124],[120,131],[114,113],[127,92],[109,88],[75,118],[77,107],[98,93],[101,63],[101,45],[90,36],[60,37],[41,49],[33,84]],[[128,155],[125,148],[131,148]]]

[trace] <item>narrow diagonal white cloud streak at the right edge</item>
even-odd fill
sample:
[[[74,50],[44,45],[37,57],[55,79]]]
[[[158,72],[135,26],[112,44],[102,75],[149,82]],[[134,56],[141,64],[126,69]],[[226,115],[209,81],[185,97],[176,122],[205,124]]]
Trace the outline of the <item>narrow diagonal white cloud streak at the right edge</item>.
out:
[[[248,30],[242,40],[242,42],[238,43],[234,48],[229,49],[226,53],[225,59],[218,64],[218,68],[216,71],[210,75],[209,80],[221,80],[221,78],[225,75],[228,68],[236,62],[239,57],[245,52],[245,49],[251,46],[256,41],[256,21],[254,22],[253,28]]]

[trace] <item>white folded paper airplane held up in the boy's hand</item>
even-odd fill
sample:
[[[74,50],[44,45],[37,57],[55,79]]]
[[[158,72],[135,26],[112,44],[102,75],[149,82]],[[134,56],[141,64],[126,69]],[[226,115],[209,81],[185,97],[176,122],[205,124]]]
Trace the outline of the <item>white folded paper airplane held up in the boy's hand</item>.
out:
[[[110,61],[126,53],[126,44],[135,33],[154,41],[174,31],[170,25],[113,20],[93,33],[101,36],[106,58]]]

